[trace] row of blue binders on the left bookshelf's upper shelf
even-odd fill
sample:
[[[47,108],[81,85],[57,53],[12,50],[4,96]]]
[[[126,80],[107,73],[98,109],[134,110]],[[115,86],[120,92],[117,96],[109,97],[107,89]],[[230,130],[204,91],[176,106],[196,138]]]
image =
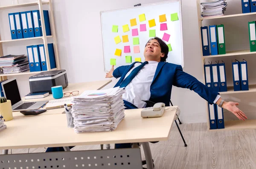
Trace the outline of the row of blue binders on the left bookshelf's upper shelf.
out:
[[[50,36],[49,12],[43,11],[46,35]],[[39,10],[9,13],[9,24],[12,39],[43,36]]]

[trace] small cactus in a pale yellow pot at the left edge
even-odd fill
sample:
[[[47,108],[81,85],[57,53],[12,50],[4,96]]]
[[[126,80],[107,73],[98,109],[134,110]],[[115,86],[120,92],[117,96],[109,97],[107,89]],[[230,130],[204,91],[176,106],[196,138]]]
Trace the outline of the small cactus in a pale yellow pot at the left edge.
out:
[[[5,121],[13,119],[11,100],[6,100],[5,97],[0,98],[0,115],[3,116]]]

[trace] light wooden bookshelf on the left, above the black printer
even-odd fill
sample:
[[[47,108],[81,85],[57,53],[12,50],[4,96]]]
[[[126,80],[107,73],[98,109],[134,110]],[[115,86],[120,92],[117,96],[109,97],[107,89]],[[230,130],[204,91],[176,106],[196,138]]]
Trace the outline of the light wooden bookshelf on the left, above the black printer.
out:
[[[43,5],[48,5],[49,6],[49,20],[50,20],[50,27],[51,27],[51,36],[46,36],[46,31],[45,31],[45,24],[44,24],[44,14],[43,14]],[[43,36],[41,37],[31,37],[31,38],[22,38],[22,39],[10,39],[10,40],[1,40],[0,38],[0,57],[5,56],[7,54],[3,54],[3,43],[12,43],[12,42],[20,42],[22,43],[25,40],[35,40],[35,39],[41,39],[43,40],[44,44],[44,50],[45,50],[45,55],[46,55],[46,62],[47,62],[47,71],[49,70],[59,70],[60,69],[60,63],[59,63],[59,56],[58,56],[58,46],[57,46],[57,38],[56,38],[56,32],[55,32],[55,24],[54,24],[54,17],[53,17],[53,9],[52,9],[52,0],[49,0],[49,2],[45,2],[42,0],[38,0],[35,2],[30,2],[30,3],[19,3],[15,5],[10,5],[10,6],[0,6],[0,10],[6,10],[6,9],[19,9],[17,10],[20,11],[20,8],[24,7],[29,7],[29,6],[38,6],[39,12],[40,12],[40,17],[41,17],[41,26],[42,26],[42,33]],[[6,16],[8,17],[8,16]],[[2,23],[2,24],[8,24],[9,23]],[[10,33],[10,32],[5,32],[5,33]],[[54,53],[55,53],[55,60],[56,60],[56,68],[50,69],[50,63],[49,63],[49,52],[48,52],[48,46],[47,46],[47,38],[53,38],[53,46],[54,46]],[[24,46],[26,48],[26,46]],[[43,71],[41,71],[43,72]],[[7,76],[15,76],[15,75],[23,75],[23,74],[37,74],[40,72],[22,72],[22,73],[15,73],[15,74],[0,74],[0,80],[4,80],[7,78]]]

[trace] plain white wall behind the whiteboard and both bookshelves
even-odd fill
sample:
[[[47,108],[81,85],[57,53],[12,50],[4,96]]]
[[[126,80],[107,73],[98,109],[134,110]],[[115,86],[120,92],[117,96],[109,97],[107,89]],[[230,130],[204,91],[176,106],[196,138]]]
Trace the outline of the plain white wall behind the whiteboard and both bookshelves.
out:
[[[34,0],[19,0],[20,3]],[[84,81],[104,80],[105,72],[103,65],[102,37],[101,37],[101,20],[100,11],[120,9],[134,6],[141,3],[157,3],[165,0],[52,0],[54,9],[55,27],[57,30],[58,51],[61,63],[61,69],[67,70],[70,83],[78,83]],[[231,3],[232,1],[232,3]],[[241,0],[227,0],[228,7],[226,14],[241,13]],[[236,2],[236,3],[233,3]],[[10,0],[1,0],[0,5],[11,4]],[[199,28],[196,0],[182,1],[182,17],[183,17],[183,49],[184,49],[184,71],[196,77],[203,82],[203,66],[201,61]],[[26,8],[28,10],[34,7]],[[26,10],[22,9],[22,10]],[[236,9],[236,10],[234,10]],[[9,33],[8,13],[15,10],[0,11],[0,34],[2,40],[11,39]],[[154,12],[154,11],[152,11]],[[252,19],[252,17],[245,17]],[[231,20],[231,19],[230,19]],[[236,24],[239,20],[243,21],[243,25]],[[212,20],[218,21],[218,20]],[[205,22],[205,21],[204,21]],[[247,20],[242,17],[233,18],[232,21],[222,19],[221,23],[225,24],[225,35],[227,50],[240,48],[248,48],[248,29]],[[209,26],[209,22],[206,22]],[[226,26],[227,25],[227,26]],[[226,29],[227,28],[227,29]],[[236,30],[233,28],[236,28]],[[236,35],[244,32],[242,35]],[[235,34],[234,34],[235,33]],[[49,39],[51,40],[51,39]],[[4,54],[26,54],[26,46],[35,43],[42,43],[40,40],[24,41],[22,43],[5,43]],[[243,46],[240,46],[242,44]],[[233,57],[223,58],[227,62],[227,80],[231,85],[232,72],[230,69],[230,61]],[[238,57],[236,57],[238,58]],[[255,60],[252,55],[245,56],[250,63],[249,69],[253,67]],[[19,85],[22,86],[22,95],[29,92],[29,83],[27,76],[17,77]],[[249,78],[254,79],[253,71],[249,70]],[[256,78],[255,78],[256,79]],[[250,79],[249,79],[250,80]],[[113,78],[113,83],[106,88],[113,87],[117,82]],[[239,106],[250,118],[253,118],[255,112],[255,100],[253,93],[225,95],[225,98],[233,101],[241,101]],[[172,103],[181,109],[180,119],[184,123],[207,122],[206,102],[195,92],[189,89],[180,89],[174,87],[172,90]],[[247,108],[247,106],[249,106]],[[225,113],[225,119],[232,119],[234,116],[228,112]],[[234,118],[236,119],[236,118]]]

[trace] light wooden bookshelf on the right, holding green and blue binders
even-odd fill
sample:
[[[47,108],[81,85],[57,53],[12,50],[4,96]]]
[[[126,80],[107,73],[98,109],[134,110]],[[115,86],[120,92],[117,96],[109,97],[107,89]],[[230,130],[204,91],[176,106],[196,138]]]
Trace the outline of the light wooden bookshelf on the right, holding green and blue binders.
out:
[[[219,20],[221,18],[227,18],[227,17],[243,17],[247,15],[254,15],[256,12],[251,13],[245,13],[245,14],[231,14],[231,15],[224,15],[224,16],[213,16],[213,17],[201,17],[201,8],[200,0],[197,0],[197,10],[198,10],[198,26],[199,26],[199,39],[200,39],[200,49],[201,49],[201,60],[202,60],[202,66],[203,66],[203,80],[205,81],[204,77],[204,62],[206,58],[212,58],[212,57],[228,57],[228,56],[236,56],[236,55],[250,55],[254,56],[252,54],[256,54],[256,52],[250,52],[250,50],[240,50],[240,51],[231,51],[226,52],[226,54],[218,54],[218,55],[209,55],[209,56],[203,56],[202,52],[202,40],[201,40],[201,26],[203,26],[202,21],[203,20],[210,20],[210,19],[216,19]],[[241,94],[241,93],[248,93],[248,92],[256,92],[256,85],[249,85],[249,90],[246,91],[234,91],[233,86],[227,87],[227,92],[219,92],[220,95],[228,95],[228,94]],[[256,119],[255,120],[225,120],[225,128],[224,129],[210,129],[209,128],[209,114],[208,114],[208,103],[206,101],[206,112],[207,112],[207,126],[209,131],[224,131],[224,130],[241,130],[241,129],[256,129]]]

